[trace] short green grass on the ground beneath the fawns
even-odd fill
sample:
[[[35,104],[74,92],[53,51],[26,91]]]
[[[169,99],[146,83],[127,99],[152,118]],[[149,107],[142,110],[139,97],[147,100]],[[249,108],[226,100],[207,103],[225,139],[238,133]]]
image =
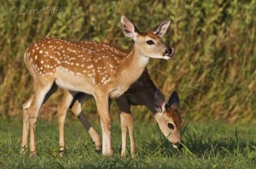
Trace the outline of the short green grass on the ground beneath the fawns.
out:
[[[99,122],[93,125],[100,131]],[[38,121],[38,156],[20,155],[21,121],[0,125],[0,168],[255,168],[255,123],[191,122],[183,131],[186,149],[166,141],[155,121],[136,121],[137,155],[120,156],[119,122],[113,124],[112,157],[96,153],[77,119],[66,124],[67,154],[58,155],[56,121]]]

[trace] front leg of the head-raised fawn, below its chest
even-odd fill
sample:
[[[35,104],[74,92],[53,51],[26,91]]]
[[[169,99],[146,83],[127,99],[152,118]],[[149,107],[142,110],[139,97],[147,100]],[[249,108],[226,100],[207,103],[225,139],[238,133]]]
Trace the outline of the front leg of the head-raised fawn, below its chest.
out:
[[[106,93],[97,93],[95,98],[102,124],[102,155],[113,155],[111,138],[112,121],[109,114],[111,102],[109,102]]]

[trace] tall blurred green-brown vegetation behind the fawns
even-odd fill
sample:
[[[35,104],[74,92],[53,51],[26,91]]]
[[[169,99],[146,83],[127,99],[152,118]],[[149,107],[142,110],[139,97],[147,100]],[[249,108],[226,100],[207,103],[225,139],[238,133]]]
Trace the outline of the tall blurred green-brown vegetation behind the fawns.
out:
[[[3,1],[0,9],[2,116],[22,115],[22,104],[32,95],[32,78],[23,61],[32,42],[58,37],[131,48],[131,39],[119,27],[120,15],[125,14],[143,31],[172,20],[164,42],[176,49],[175,57],[168,62],[151,60],[148,70],[166,97],[177,90],[183,116],[228,121],[255,117],[255,0]],[[59,96],[47,107],[55,108]],[[88,105],[96,111],[93,101]],[[147,113],[137,118],[149,116],[144,108],[138,111]]]

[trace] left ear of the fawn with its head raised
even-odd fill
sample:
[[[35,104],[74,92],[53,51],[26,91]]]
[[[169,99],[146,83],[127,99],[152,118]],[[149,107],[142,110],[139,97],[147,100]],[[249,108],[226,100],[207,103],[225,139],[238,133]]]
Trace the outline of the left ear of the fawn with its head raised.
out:
[[[133,25],[131,21],[123,15],[121,16],[121,27],[126,37],[131,37],[132,39],[137,37],[139,31],[137,30],[135,25]]]

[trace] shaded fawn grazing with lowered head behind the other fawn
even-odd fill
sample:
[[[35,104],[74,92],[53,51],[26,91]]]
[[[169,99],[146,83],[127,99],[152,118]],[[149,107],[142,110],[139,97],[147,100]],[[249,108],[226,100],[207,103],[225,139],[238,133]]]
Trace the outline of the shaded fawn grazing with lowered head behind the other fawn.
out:
[[[84,48],[96,49],[93,42],[78,42],[83,45]],[[107,43],[97,42],[97,47],[102,46],[102,50],[109,54],[119,54],[120,57],[124,57],[127,52],[115,48]],[[104,48],[108,46],[108,48]],[[90,123],[85,119],[82,113],[82,104],[86,99],[89,99],[91,95],[78,93],[74,99],[71,93],[67,90],[64,93],[61,103],[58,104],[58,119],[60,127],[60,146],[61,155],[64,150],[64,122],[67,114],[67,109],[70,107],[73,113],[79,117],[79,120],[84,124],[84,127],[90,133],[93,142],[96,144],[96,149],[101,149],[101,139],[98,133],[91,127]],[[72,100],[73,99],[73,100]],[[175,148],[181,148],[182,135],[181,129],[183,121],[177,113],[179,106],[179,99],[177,93],[173,92],[166,104],[164,95],[155,87],[147,69],[143,71],[143,75],[139,77],[137,82],[133,83],[129,89],[122,94],[118,99],[115,99],[121,117],[121,131],[122,131],[122,152],[121,155],[125,155],[126,150],[126,135],[129,131],[131,142],[131,155],[136,150],[134,137],[133,137],[133,118],[131,115],[131,105],[146,105],[148,109],[154,115],[156,121],[160,126],[160,130],[170,140]],[[127,130],[128,129],[128,130]],[[172,132],[172,134],[170,134]]]

